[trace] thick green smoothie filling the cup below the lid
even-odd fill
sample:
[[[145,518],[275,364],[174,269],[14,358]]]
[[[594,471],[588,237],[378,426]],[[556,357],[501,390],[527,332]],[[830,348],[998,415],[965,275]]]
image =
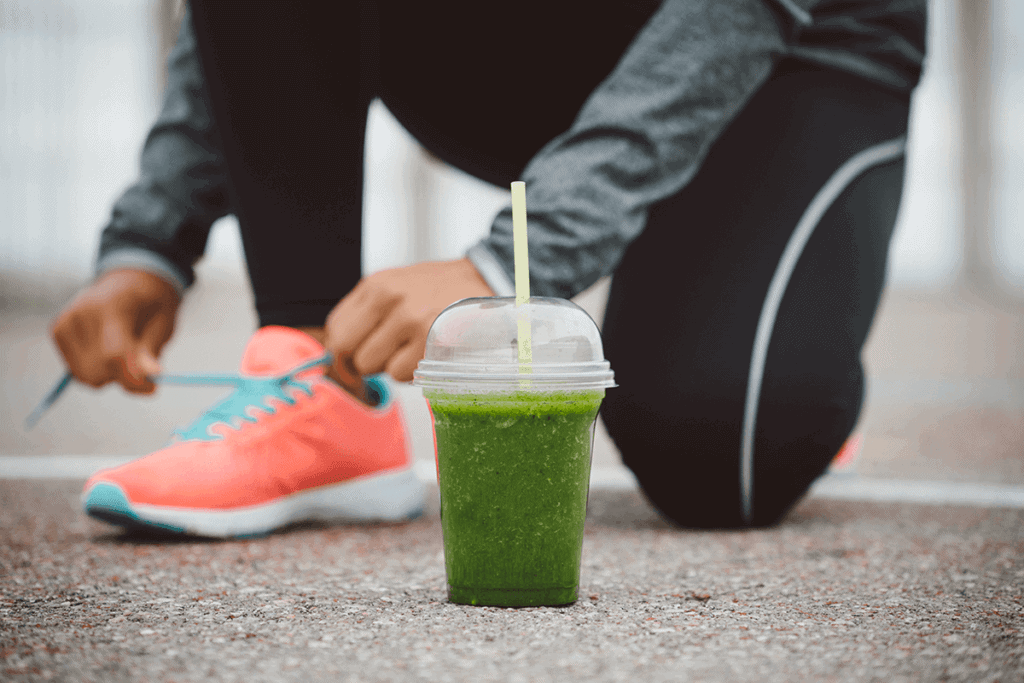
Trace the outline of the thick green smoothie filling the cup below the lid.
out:
[[[575,601],[604,390],[424,395],[437,441],[449,599]]]

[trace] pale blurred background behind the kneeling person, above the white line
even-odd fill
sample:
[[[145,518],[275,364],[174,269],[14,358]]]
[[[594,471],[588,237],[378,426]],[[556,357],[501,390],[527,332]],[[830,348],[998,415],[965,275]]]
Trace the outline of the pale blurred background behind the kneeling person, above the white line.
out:
[[[141,455],[218,395],[76,386],[22,427],[60,375],[47,325],[89,280],[136,174],[180,11],[177,0],[0,0],[0,457]],[[1020,0],[931,2],[890,288],[865,350],[862,474],[1024,483],[1022,36]],[[427,155],[380,102],[367,145],[367,271],[462,255],[507,202]],[[254,329],[233,219],[214,226],[200,279],[171,372],[234,368]],[[580,297],[598,319],[606,286]],[[430,459],[422,399],[401,395]],[[616,462],[603,435],[596,457]]]

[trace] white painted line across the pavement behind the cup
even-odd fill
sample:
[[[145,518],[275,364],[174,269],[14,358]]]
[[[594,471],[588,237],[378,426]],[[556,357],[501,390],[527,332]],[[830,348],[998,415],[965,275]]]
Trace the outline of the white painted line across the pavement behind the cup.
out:
[[[81,479],[104,467],[117,467],[134,460],[131,456],[0,456],[0,479]],[[416,463],[416,476],[436,483],[433,461]],[[637,480],[629,469],[595,467],[591,471],[593,490],[631,490]],[[809,496],[819,499],[867,503],[916,503],[981,508],[1024,509],[1024,486],[964,481],[920,481],[912,479],[868,479],[856,474],[826,474],[818,479]]]

